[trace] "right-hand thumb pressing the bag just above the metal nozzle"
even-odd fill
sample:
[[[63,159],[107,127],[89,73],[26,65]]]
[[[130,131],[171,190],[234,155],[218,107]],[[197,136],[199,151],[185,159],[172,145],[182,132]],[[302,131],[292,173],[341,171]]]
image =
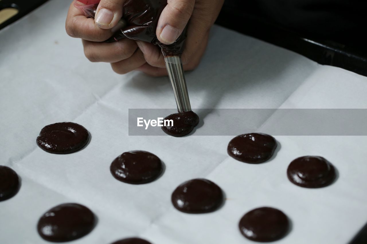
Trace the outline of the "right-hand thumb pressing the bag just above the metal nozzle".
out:
[[[168,0],[156,30],[163,44],[172,44],[181,35],[194,10],[195,0]]]

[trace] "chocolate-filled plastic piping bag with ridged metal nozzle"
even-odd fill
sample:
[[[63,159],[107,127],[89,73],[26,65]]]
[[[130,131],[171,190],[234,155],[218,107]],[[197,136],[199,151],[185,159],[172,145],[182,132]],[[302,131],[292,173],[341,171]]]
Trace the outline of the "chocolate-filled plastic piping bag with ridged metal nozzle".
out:
[[[94,18],[100,0],[79,0],[74,2],[76,8],[87,18]],[[146,41],[161,48],[166,63],[168,77],[172,85],[178,112],[191,111],[185,74],[181,55],[186,39],[186,29],[181,36],[170,44],[161,43],[156,36],[159,16],[167,5],[167,0],[127,0],[123,6],[123,18],[117,24],[119,30],[105,42],[118,41],[122,38]]]

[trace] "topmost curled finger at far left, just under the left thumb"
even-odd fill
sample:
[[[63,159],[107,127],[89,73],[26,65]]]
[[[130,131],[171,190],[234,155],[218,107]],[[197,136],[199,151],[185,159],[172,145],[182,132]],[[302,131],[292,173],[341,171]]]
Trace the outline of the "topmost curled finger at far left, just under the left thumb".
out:
[[[73,3],[69,7],[65,29],[69,36],[88,41],[105,41],[113,34],[111,30],[99,28],[94,23],[94,19],[84,16]]]

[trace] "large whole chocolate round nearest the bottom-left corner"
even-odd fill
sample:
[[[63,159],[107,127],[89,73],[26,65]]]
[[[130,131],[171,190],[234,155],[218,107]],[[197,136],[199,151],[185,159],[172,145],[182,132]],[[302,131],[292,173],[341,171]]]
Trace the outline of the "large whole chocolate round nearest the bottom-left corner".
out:
[[[91,232],[95,223],[96,218],[89,208],[65,203],[44,213],[38,221],[37,230],[46,241],[72,241]]]

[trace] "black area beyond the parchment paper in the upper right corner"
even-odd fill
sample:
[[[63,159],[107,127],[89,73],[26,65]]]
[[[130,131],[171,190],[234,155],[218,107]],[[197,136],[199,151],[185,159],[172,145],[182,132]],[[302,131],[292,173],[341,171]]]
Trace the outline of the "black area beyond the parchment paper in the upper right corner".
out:
[[[325,1],[320,2],[325,4]],[[276,2],[282,7],[276,9],[276,5],[270,2],[226,0],[216,23],[297,52],[317,63],[367,76],[366,39],[361,31],[366,21],[360,20],[364,15],[355,11],[357,5],[348,9],[349,4],[341,4],[346,1],[338,0],[339,8],[335,7],[333,12],[334,7],[330,3],[326,5],[329,11],[323,14],[321,10],[326,8],[325,5],[299,7],[278,0]],[[340,13],[343,7],[345,14]],[[275,10],[270,11],[269,8]],[[278,15],[274,11],[279,11]],[[357,17],[348,18],[354,15]]]

